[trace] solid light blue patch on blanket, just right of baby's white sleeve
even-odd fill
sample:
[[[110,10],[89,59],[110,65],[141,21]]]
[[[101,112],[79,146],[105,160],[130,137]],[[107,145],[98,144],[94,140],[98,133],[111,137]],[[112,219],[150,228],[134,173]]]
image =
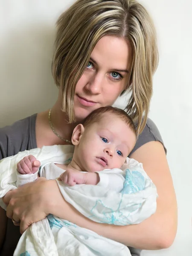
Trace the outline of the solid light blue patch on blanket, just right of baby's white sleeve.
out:
[[[138,171],[126,169],[125,181],[121,193],[132,194],[145,188],[145,178]]]

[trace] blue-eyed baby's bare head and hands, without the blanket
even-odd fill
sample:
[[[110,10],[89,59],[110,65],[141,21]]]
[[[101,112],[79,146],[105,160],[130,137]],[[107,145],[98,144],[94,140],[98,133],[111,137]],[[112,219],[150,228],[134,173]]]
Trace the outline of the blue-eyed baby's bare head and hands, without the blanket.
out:
[[[128,114],[111,106],[96,109],[84,121],[73,130],[72,143],[75,145],[73,158],[68,165],[56,164],[66,170],[60,173],[55,168],[55,175],[65,184],[99,183],[97,172],[104,169],[121,169],[122,165],[136,143],[136,130],[132,119]],[[41,163],[32,155],[24,157],[17,164],[20,174],[38,175],[37,171]],[[49,170],[46,168],[43,176],[49,178]],[[55,176],[58,177],[58,176]],[[35,180],[37,176],[33,176]],[[20,180],[20,181],[18,181]],[[17,175],[17,185],[22,184],[22,177]]]

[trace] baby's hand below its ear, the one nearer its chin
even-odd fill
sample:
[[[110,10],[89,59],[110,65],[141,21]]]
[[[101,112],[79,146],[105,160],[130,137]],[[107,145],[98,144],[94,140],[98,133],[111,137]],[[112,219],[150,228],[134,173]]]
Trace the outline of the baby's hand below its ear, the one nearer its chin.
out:
[[[60,175],[58,180],[61,180],[63,183],[69,186],[74,186],[76,184],[84,184],[85,174],[74,169],[67,169]]]

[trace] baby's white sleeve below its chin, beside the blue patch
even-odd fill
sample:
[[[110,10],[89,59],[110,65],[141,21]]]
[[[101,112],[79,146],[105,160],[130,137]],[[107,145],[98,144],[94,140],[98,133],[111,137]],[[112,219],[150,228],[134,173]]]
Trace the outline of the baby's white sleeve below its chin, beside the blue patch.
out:
[[[115,192],[120,192],[123,189],[125,175],[121,169],[114,168],[103,170],[97,173],[99,174],[100,178],[97,186],[102,186]]]

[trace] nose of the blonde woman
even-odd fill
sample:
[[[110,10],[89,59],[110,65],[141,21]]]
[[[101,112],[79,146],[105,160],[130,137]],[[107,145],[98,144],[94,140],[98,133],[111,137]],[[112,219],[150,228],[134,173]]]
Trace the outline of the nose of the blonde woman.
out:
[[[87,81],[85,89],[88,90],[91,94],[100,94],[102,92],[103,78],[101,75],[96,74]]]

